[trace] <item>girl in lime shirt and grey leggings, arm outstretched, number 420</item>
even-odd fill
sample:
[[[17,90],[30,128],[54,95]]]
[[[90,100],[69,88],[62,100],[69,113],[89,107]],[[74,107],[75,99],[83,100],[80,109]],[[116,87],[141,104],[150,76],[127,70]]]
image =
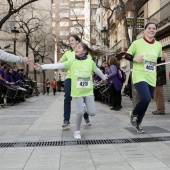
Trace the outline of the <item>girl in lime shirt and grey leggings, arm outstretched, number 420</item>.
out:
[[[64,63],[34,65],[35,69],[68,69],[70,71],[71,96],[75,98],[77,109],[75,139],[81,139],[80,127],[85,110],[84,103],[90,116],[96,114],[92,73],[95,72],[102,80],[106,80],[105,75],[97,68],[95,62],[88,59],[88,53],[92,56],[101,56],[103,51],[92,50],[85,43],[80,42],[75,48],[74,59]]]

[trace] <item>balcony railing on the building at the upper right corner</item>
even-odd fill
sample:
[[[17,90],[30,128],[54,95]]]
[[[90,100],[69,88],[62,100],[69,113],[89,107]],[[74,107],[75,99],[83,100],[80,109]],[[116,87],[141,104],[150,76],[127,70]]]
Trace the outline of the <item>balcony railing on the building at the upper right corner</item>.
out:
[[[157,12],[151,15],[148,20],[157,24],[157,28],[161,28],[164,25],[170,23],[170,2],[160,8]]]

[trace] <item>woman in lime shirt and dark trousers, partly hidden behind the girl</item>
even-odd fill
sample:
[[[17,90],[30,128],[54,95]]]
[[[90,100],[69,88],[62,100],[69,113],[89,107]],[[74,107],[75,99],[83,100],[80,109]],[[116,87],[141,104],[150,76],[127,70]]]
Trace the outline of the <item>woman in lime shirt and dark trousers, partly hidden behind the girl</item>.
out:
[[[81,42],[81,39],[77,35],[71,35],[69,38],[70,50],[65,52],[61,57],[60,62],[63,63],[65,61],[69,61],[75,58],[75,47],[77,43]],[[88,59],[92,59],[90,55],[88,55]],[[64,82],[64,120],[62,127],[67,127],[70,125],[70,115],[71,115],[71,74],[70,71],[67,71],[66,80]],[[89,115],[84,113],[84,120],[87,125],[91,125]]]

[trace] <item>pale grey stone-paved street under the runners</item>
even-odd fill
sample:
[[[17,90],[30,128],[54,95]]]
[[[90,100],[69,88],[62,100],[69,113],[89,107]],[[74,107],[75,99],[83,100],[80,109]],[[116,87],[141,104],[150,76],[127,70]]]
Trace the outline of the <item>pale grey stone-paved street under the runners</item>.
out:
[[[97,114],[90,118],[92,126],[82,122],[82,141],[120,142],[79,145],[73,139],[74,101],[71,127],[61,127],[63,95],[40,95],[0,109],[0,170],[170,170],[170,103],[166,103],[166,115],[155,116],[151,114],[155,108],[152,102],[143,121],[146,133],[137,134],[129,123],[132,106],[128,97],[123,98],[123,108],[117,112],[96,102]],[[165,136],[167,141],[152,141]],[[121,143],[120,139],[133,142]],[[55,141],[67,141],[67,145],[48,146]],[[24,147],[29,142],[47,142],[47,146]],[[15,145],[5,147],[2,143]]]

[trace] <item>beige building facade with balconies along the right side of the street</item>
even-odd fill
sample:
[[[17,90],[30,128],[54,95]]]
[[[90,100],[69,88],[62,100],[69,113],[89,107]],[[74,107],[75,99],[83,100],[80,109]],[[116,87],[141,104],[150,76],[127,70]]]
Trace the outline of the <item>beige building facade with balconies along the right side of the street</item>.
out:
[[[136,0],[124,0],[126,18],[134,18],[133,3]],[[118,5],[116,0],[108,0],[110,7],[114,9]],[[141,0],[138,2],[137,17],[141,23],[137,23],[136,39],[143,37],[143,26],[147,22],[157,24],[158,30],[156,39],[162,43],[163,50],[168,54],[166,62],[170,61],[170,0]],[[109,10],[103,10],[103,26],[109,28],[108,42],[109,50],[114,52],[114,55],[120,60],[120,66],[124,71],[130,70],[130,63],[123,59],[125,52],[128,49],[127,38],[125,34],[124,21],[122,18],[121,9],[117,8],[111,16],[110,22],[107,22]],[[99,15],[99,14],[98,14]],[[129,24],[130,20],[128,21]],[[129,25],[128,25],[129,26]],[[134,36],[132,25],[128,27],[130,40]],[[127,72],[127,77],[130,71]],[[170,65],[166,65],[167,84],[164,86],[164,96],[166,100],[170,99]],[[126,84],[126,83],[125,83]]]

